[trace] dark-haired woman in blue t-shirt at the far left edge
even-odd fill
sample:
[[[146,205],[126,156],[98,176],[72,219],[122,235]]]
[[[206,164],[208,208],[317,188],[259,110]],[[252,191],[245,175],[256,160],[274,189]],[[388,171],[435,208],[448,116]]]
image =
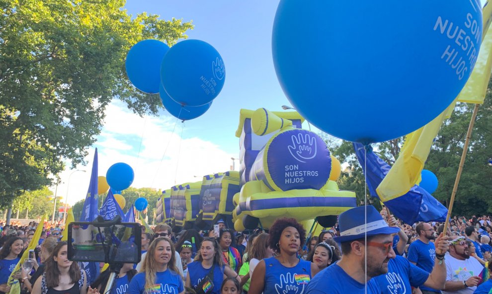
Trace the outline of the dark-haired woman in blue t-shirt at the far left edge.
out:
[[[7,285],[8,278],[13,269],[20,261],[18,255],[24,250],[24,242],[20,237],[9,237],[0,250],[0,294],[8,293],[10,286]],[[20,279],[20,271],[13,276]]]

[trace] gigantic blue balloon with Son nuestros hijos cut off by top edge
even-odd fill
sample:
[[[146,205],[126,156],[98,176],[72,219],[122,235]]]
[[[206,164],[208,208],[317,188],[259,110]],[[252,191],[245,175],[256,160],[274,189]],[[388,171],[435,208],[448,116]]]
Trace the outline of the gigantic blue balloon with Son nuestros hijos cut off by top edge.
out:
[[[478,2],[280,0],[272,34],[280,85],[336,137],[371,143],[408,134],[468,80],[482,38]],[[300,40],[306,33],[314,37]]]

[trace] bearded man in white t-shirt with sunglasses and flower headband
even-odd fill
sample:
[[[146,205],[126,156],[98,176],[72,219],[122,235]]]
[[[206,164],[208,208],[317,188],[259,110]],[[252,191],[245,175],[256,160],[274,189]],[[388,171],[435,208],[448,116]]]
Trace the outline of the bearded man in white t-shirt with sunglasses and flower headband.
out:
[[[465,237],[453,235],[446,254],[446,284],[443,294],[472,294],[482,282],[485,268],[470,258]]]

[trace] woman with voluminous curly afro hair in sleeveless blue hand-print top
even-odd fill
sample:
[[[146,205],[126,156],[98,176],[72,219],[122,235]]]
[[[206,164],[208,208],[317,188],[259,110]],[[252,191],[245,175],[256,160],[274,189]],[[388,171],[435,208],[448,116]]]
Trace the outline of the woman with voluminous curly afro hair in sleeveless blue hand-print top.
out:
[[[269,246],[277,256],[258,263],[253,271],[248,294],[301,294],[318,267],[297,256],[306,230],[294,218],[277,219],[269,229]]]

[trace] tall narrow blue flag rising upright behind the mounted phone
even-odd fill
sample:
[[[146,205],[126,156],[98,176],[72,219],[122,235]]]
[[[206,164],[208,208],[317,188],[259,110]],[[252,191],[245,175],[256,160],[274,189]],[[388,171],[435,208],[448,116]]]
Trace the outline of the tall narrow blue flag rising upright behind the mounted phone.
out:
[[[97,217],[97,148],[94,153],[94,160],[92,161],[92,171],[90,174],[89,189],[87,190],[87,196],[85,196],[85,202],[83,203],[82,214],[80,221],[93,221]],[[95,262],[80,262],[80,267],[85,271],[87,275],[87,285],[92,284],[99,275],[99,263]]]

